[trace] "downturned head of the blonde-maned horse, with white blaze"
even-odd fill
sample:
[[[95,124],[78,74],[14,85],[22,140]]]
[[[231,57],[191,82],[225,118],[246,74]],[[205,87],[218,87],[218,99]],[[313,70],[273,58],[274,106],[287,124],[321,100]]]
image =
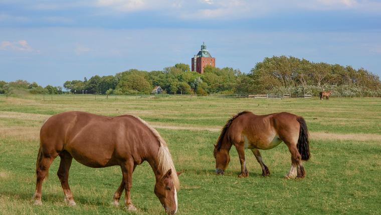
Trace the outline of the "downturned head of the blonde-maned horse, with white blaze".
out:
[[[155,184],[155,194],[163,205],[165,212],[177,212],[177,192],[172,180],[172,169],[169,169]],[[176,174],[176,172],[174,173]],[[179,174],[179,173],[177,173]]]

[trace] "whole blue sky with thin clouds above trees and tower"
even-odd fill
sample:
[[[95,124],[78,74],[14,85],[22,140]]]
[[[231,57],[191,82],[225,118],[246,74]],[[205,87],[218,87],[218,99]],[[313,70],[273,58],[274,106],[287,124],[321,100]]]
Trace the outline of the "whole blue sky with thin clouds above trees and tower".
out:
[[[0,0],[0,80],[161,70],[203,41],[243,72],[293,55],[381,76],[381,0]]]

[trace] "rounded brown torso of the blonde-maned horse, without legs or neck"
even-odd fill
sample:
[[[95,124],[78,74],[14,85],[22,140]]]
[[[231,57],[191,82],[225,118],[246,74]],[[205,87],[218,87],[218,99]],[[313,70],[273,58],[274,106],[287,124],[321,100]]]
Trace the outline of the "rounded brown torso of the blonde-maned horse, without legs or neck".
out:
[[[104,167],[132,157],[142,141],[141,134],[150,137],[144,124],[134,116],[70,111],[49,118],[40,135],[44,148],[57,153],[65,150],[84,165]]]

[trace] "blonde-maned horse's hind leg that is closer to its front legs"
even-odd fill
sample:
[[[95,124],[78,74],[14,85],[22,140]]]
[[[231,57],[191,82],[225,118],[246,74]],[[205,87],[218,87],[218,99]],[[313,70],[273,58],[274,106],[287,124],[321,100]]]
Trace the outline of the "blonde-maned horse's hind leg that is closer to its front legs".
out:
[[[71,166],[71,162],[73,160],[73,157],[71,154],[67,151],[62,151],[60,153],[61,162],[60,167],[58,168],[57,175],[60,178],[62,189],[64,190],[65,194],[65,202],[70,206],[75,206],[76,203],[73,199],[73,194],[69,187],[69,169]]]

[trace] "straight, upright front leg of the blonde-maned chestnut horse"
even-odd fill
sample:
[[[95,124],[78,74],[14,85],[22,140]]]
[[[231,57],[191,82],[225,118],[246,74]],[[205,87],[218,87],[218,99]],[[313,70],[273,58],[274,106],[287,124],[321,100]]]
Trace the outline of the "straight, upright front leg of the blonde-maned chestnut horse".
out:
[[[132,204],[131,193],[130,193],[131,186],[132,186],[132,173],[133,173],[133,170],[135,169],[134,162],[126,161],[126,163],[122,164],[121,167],[122,167],[124,189],[125,189],[124,203],[126,205],[127,210],[136,211],[136,207]]]

